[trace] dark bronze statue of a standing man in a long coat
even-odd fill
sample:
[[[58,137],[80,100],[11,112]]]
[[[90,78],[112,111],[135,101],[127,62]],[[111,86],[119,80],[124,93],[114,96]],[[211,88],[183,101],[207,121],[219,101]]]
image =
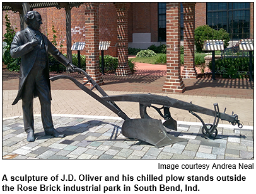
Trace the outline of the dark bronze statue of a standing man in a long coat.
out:
[[[35,141],[33,98],[37,96],[40,100],[45,135],[63,137],[54,129],[52,122],[48,53],[71,70],[75,66],[40,33],[42,18],[37,11],[28,11],[25,22],[28,27],[18,31],[11,43],[11,57],[21,57],[19,89],[13,105],[22,100],[27,141]]]

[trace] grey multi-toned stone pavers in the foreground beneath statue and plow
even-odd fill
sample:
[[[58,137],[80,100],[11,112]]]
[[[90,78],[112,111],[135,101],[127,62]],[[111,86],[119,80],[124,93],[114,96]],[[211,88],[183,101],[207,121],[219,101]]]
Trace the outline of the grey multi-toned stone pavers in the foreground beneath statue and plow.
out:
[[[35,117],[36,140],[28,143],[22,117],[3,119],[3,158],[15,159],[248,159],[253,157],[253,130],[218,127],[218,137],[202,137],[201,126],[178,122],[173,136],[187,142],[163,148],[122,136],[121,119],[54,116],[56,130],[67,136],[45,136]]]

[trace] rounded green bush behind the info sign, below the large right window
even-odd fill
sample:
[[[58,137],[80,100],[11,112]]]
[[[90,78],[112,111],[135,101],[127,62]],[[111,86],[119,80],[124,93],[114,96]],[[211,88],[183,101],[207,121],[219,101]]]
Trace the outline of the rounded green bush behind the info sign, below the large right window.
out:
[[[202,52],[205,40],[223,40],[224,48],[228,46],[230,35],[224,29],[214,30],[208,25],[195,28],[195,48],[198,53]]]

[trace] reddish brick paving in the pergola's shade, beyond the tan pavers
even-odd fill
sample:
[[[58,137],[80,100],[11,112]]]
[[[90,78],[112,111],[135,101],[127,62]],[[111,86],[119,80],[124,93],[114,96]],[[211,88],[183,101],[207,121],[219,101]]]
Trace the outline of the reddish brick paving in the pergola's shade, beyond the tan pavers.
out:
[[[218,78],[211,79],[211,75],[199,73],[197,79],[183,79],[186,90],[181,95],[227,97],[236,99],[253,99],[254,83],[248,79],[229,79]],[[83,75],[78,73],[62,73],[71,75],[78,80],[83,80]],[[50,73],[50,77],[55,76]],[[165,65],[141,65],[137,72],[127,77],[117,77],[115,75],[104,75],[105,82],[101,87],[106,91],[123,92],[146,92],[162,93],[163,84],[166,80]],[[70,80],[52,82],[52,90],[79,90]],[[3,72],[3,90],[18,89],[18,73]]]

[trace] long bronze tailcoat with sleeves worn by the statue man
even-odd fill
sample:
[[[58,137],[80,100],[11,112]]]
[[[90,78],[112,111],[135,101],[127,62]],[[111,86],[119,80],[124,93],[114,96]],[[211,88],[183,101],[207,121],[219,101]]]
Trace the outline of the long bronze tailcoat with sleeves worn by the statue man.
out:
[[[21,64],[20,64],[20,77],[19,77],[19,90],[18,94],[13,101],[13,105],[15,105],[20,99],[24,84],[26,83],[26,78],[28,77],[28,73],[32,70],[32,67],[35,63],[37,58],[38,49],[34,48],[30,43],[32,41],[33,35],[29,28],[25,30],[18,31],[13,38],[13,42],[11,43],[11,57],[18,58],[21,57]],[[50,53],[52,57],[56,60],[61,62],[63,65],[67,66],[69,60],[67,60],[64,55],[61,54],[57,48],[52,45],[52,43],[48,40],[48,38],[42,34],[45,44],[45,51],[46,53]],[[50,80],[49,80],[49,59],[47,55],[47,65],[44,69],[44,74],[47,77],[47,84],[49,85],[50,89]]]

